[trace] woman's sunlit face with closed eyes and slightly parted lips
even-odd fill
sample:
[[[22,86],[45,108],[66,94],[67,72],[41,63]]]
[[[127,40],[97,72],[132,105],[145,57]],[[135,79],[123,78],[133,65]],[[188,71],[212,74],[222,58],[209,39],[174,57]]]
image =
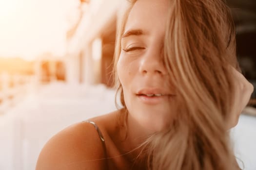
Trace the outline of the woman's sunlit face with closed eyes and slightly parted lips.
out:
[[[160,131],[171,121],[174,91],[163,65],[168,0],[138,0],[121,39],[117,71],[129,116]]]

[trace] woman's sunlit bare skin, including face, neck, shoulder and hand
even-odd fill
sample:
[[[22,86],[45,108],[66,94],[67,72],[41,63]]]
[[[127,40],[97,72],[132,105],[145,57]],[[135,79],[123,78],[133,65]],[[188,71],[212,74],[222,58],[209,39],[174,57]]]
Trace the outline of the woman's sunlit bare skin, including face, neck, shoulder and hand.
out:
[[[118,125],[122,110],[90,119],[101,130],[107,155],[94,126],[80,122],[62,130],[45,144],[36,170],[105,170],[106,163],[110,170],[145,169],[144,163],[134,162],[139,150],[128,152],[171,122],[171,105],[175,102],[175,90],[167,83],[169,78],[161,60],[167,3],[168,0],[138,0],[125,25],[117,71],[129,111],[127,137],[126,130]],[[143,34],[131,35],[132,30]],[[253,91],[252,85],[239,72],[233,72],[239,98],[234,107],[236,114],[230,118],[230,127],[237,123],[236,118]],[[138,95],[153,92],[165,95]],[[102,159],[106,156],[111,159]]]

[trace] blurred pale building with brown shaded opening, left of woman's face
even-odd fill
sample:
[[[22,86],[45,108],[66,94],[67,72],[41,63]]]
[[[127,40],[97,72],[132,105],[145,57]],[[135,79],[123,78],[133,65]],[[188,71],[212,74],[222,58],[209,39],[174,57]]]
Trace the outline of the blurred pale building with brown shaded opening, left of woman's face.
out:
[[[68,40],[67,82],[113,85],[110,72],[115,47],[117,9],[120,3],[121,0],[90,1],[76,33]],[[94,59],[92,48],[93,42],[98,38],[102,40],[100,60]]]

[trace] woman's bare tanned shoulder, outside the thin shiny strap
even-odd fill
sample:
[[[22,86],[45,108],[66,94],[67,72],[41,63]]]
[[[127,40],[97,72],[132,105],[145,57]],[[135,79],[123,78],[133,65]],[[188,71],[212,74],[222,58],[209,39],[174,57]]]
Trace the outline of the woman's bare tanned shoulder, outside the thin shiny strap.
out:
[[[88,122],[69,126],[53,136],[39,154],[36,170],[104,170],[104,147]]]

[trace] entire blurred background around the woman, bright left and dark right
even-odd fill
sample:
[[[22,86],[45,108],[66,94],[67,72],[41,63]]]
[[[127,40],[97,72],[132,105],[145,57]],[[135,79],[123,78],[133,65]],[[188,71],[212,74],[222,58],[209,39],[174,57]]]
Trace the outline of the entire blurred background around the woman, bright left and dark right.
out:
[[[116,109],[112,60],[125,0],[0,0],[0,170],[34,170],[61,129]],[[256,1],[227,0],[237,57],[256,88]],[[231,130],[256,170],[256,92]]]

